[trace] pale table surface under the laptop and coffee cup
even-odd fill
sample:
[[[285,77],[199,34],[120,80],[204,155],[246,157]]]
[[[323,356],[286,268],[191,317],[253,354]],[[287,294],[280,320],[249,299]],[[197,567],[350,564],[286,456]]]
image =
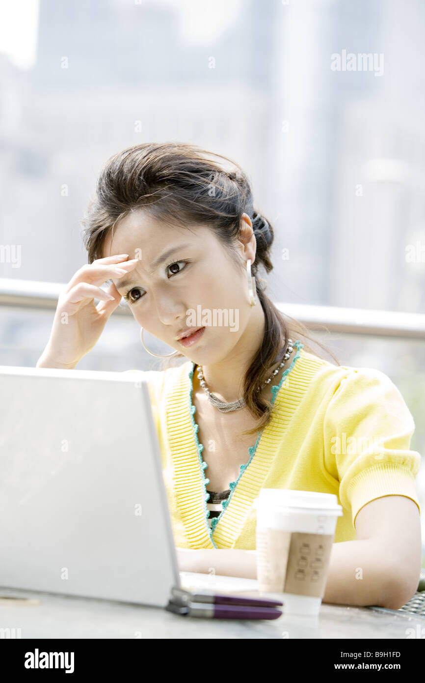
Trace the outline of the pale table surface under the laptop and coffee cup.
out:
[[[188,587],[191,576],[195,575],[188,574],[188,572],[181,573],[182,584]],[[237,592],[252,594],[252,589],[244,590],[244,585]],[[0,587],[0,597],[2,596],[33,600],[30,604],[14,600],[0,600],[0,628],[15,629],[15,633],[19,634],[15,637],[23,639],[406,639],[409,628],[416,633],[422,632],[422,637],[425,634],[424,617],[374,607],[322,603],[319,615],[314,617],[282,613],[278,619],[270,621],[200,619],[175,615],[161,607],[41,591]]]

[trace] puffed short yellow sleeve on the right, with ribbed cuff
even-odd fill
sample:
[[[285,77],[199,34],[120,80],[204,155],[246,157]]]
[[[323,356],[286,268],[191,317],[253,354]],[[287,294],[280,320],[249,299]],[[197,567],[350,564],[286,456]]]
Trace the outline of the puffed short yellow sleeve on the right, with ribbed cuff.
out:
[[[380,370],[362,367],[342,378],[325,411],[324,459],[340,482],[343,507],[355,518],[372,500],[395,494],[420,512],[415,477],[421,456],[410,450],[413,417],[396,385]]]

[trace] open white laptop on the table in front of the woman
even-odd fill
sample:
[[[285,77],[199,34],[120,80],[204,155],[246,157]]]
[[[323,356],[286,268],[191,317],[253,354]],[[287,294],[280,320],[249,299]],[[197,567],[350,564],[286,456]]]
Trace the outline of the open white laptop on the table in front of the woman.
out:
[[[171,587],[257,581],[179,572],[143,372],[0,366],[0,591],[165,607]]]

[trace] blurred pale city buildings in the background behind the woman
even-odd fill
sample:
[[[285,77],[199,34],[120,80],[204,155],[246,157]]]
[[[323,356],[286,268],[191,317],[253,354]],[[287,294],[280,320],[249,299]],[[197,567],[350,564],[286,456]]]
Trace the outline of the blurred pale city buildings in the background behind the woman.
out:
[[[0,365],[42,354],[51,292],[87,263],[80,219],[104,162],[145,141],[202,145],[252,180],[282,311],[382,312],[379,333],[314,334],[400,389],[425,509],[425,4],[16,0],[0,12]],[[398,334],[394,313],[414,314]],[[78,369],[156,369],[139,333],[115,311]]]

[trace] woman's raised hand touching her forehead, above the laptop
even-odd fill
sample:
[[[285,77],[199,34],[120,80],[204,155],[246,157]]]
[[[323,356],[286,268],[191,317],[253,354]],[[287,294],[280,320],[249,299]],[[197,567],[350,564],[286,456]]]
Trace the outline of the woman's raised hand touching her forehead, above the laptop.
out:
[[[107,292],[100,285],[130,273],[138,259],[127,259],[128,254],[107,256],[77,270],[59,295],[50,339],[36,367],[73,370],[96,345],[109,316],[121,301],[113,282]],[[97,307],[95,298],[101,300]]]

